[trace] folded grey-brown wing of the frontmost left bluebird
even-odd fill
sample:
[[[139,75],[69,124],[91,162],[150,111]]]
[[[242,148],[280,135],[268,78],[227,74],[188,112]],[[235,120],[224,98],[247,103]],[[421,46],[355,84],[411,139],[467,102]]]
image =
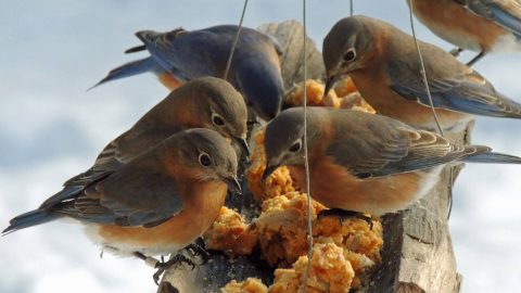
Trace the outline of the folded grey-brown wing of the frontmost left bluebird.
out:
[[[56,213],[92,222],[153,227],[183,208],[176,181],[130,163],[92,184]]]

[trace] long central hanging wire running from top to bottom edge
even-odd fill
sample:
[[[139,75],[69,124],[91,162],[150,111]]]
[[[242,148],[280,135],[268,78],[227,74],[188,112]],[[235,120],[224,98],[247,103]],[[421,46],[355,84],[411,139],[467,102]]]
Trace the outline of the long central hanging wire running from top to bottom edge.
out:
[[[302,0],[302,22],[303,22],[303,66],[304,66],[304,162],[306,168],[306,196],[307,196],[307,265],[306,272],[304,275],[304,292],[307,292],[307,280],[309,278],[309,270],[312,268],[313,258],[313,226],[312,226],[312,196],[309,194],[309,161],[307,157],[307,23],[306,23],[306,0]]]

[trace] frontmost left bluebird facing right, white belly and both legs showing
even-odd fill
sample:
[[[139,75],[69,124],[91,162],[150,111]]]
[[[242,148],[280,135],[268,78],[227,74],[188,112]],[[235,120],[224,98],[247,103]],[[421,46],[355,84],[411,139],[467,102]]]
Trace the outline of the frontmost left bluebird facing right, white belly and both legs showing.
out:
[[[114,253],[173,253],[209,228],[225,203],[227,186],[240,190],[237,168],[236,152],[219,133],[185,130],[69,199],[11,219],[2,233],[69,217]]]

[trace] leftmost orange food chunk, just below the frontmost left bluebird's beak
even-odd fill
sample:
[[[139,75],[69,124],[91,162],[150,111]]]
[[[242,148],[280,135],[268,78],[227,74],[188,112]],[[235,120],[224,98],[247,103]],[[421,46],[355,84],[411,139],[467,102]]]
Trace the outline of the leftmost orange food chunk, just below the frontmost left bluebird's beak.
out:
[[[226,206],[220,208],[219,216],[203,234],[207,250],[223,251],[229,255],[249,255],[257,243],[255,229],[251,229],[244,218]]]

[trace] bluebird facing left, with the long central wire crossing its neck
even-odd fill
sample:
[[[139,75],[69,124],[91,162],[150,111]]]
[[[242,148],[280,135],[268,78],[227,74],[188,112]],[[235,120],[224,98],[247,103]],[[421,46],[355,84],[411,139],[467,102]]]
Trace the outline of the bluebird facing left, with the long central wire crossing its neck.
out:
[[[445,164],[521,164],[521,157],[482,145],[456,145],[378,114],[329,107],[307,111],[310,195],[330,208],[380,216],[427,194]],[[268,124],[264,178],[285,165],[304,188],[303,136],[302,107],[283,111]]]

